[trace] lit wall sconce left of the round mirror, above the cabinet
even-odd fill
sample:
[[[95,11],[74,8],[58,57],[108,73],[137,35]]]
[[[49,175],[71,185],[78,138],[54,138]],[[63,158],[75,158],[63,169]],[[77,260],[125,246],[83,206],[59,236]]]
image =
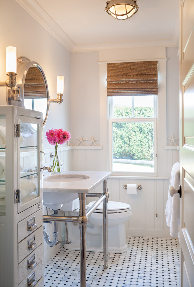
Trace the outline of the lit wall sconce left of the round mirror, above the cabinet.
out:
[[[0,86],[7,86],[9,88],[9,98],[19,98],[19,88],[16,87],[17,76],[17,56],[16,47],[9,46],[6,48],[6,75],[7,81],[0,81]]]

